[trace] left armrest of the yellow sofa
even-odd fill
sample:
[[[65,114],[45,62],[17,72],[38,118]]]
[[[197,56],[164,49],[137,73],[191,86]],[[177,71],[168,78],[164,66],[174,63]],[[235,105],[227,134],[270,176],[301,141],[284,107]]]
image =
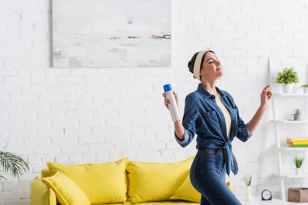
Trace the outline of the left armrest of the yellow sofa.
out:
[[[35,177],[31,183],[31,205],[56,205],[56,197],[52,189]]]

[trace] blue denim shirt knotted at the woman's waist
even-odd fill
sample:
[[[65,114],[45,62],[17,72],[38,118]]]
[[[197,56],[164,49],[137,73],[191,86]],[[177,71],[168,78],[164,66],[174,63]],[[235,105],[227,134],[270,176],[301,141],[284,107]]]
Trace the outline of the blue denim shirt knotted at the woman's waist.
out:
[[[210,149],[224,148],[226,172],[230,176],[230,170],[236,175],[238,165],[232,152],[231,142],[235,137],[241,141],[247,141],[252,135],[249,134],[248,125],[239,115],[239,110],[234,103],[233,97],[226,91],[216,90],[221,95],[222,104],[231,114],[231,133],[228,139],[226,121],[223,112],[216,104],[215,95],[210,94],[205,88],[198,85],[198,89],[189,93],[185,98],[184,115],[182,124],[185,129],[184,139],[180,140],[176,133],[175,137],[181,147],[186,147],[197,134],[197,147]]]

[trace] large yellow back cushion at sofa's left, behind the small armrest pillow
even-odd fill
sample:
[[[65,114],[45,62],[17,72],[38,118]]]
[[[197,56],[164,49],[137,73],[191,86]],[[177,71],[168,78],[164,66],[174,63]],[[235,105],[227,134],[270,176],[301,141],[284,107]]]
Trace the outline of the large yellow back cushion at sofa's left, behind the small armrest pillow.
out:
[[[47,162],[51,174],[65,174],[85,193],[91,204],[126,201],[128,158],[115,162],[62,165]]]

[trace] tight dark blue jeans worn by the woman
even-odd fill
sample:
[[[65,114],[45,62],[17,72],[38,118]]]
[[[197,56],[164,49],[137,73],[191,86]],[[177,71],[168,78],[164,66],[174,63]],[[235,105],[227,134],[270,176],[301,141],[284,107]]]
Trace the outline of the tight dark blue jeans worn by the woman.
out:
[[[226,185],[223,153],[223,148],[199,148],[191,164],[190,181],[201,194],[201,205],[242,204]]]

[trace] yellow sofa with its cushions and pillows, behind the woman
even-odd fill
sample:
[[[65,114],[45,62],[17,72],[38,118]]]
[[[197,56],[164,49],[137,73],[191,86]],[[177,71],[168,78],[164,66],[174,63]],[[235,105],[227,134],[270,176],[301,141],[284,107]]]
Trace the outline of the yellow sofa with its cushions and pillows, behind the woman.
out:
[[[179,162],[130,161],[62,165],[48,169],[31,183],[31,205],[200,204],[189,179],[194,156]],[[227,182],[233,191],[233,187]]]

